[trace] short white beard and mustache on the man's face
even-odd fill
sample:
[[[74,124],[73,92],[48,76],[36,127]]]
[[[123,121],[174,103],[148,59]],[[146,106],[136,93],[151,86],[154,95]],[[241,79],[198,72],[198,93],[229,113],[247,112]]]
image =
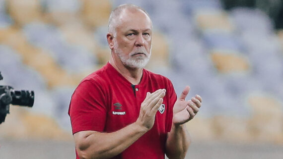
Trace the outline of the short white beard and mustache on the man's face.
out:
[[[151,49],[150,49],[151,52]],[[118,48],[118,45],[114,46],[114,53],[117,53],[118,57],[122,61],[122,63],[125,66],[131,67],[131,68],[144,68],[147,62],[149,61],[150,54],[147,53],[144,47],[136,49],[135,51],[131,52],[129,55],[123,55],[123,52],[121,49]],[[136,53],[144,53],[145,56],[137,56],[134,57],[133,55]]]

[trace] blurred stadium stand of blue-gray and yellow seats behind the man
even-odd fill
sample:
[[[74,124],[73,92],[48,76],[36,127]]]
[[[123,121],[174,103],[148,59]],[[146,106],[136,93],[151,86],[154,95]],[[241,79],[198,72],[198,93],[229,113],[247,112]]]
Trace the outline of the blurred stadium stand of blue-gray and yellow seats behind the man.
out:
[[[188,124],[194,138],[283,144],[283,30],[273,19],[282,8],[235,1],[0,0],[1,84],[35,90],[33,108],[12,108],[0,137],[71,139],[71,94],[109,60],[111,9],[134,3],[153,22],[147,68],[177,94],[190,85],[203,97]]]

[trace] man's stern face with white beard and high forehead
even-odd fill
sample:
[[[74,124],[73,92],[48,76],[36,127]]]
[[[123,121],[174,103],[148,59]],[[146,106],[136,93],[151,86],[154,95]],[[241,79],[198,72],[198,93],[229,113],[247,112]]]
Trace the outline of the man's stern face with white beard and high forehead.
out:
[[[131,68],[143,68],[151,52],[151,20],[137,9],[125,9],[118,19],[114,53]]]

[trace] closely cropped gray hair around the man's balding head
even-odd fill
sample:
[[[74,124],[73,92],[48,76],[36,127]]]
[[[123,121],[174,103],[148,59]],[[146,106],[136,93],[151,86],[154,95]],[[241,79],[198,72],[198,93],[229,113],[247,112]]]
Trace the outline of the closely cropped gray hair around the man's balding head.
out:
[[[113,33],[114,37],[116,37],[116,26],[115,23],[116,19],[120,16],[120,14],[127,8],[134,8],[134,9],[140,9],[143,11],[148,17],[149,14],[140,6],[134,5],[134,4],[121,4],[114,8],[114,10],[111,12],[109,16],[109,21],[108,21],[108,32]]]

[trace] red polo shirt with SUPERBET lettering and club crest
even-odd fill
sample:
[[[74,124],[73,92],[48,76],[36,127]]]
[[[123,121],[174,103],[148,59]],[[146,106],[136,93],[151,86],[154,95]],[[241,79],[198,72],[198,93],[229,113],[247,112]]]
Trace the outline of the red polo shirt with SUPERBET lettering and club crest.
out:
[[[171,130],[177,100],[173,85],[164,76],[143,69],[141,82],[132,85],[109,62],[84,78],[69,107],[72,133],[85,130],[114,132],[134,123],[146,92],[166,89],[153,127],[113,159],[164,159],[166,133]],[[76,154],[76,159],[79,159]]]

